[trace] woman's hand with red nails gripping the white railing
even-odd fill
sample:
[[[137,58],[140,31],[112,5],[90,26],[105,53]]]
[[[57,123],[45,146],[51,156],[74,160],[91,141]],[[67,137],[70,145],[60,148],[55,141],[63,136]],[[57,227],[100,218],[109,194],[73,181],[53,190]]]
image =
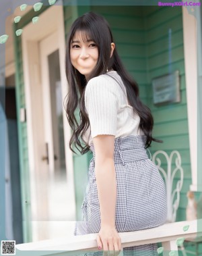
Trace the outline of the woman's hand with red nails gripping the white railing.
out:
[[[97,243],[98,249],[104,251],[103,255],[119,255],[121,251],[121,238],[112,226],[101,226]]]

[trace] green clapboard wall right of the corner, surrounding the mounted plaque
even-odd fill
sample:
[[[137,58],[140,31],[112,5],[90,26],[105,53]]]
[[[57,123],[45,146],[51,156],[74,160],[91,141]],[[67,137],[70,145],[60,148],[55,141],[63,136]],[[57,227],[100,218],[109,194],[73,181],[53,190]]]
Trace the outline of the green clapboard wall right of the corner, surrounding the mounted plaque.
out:
[[[150,7],[143,9],[145,20],[145,43],[147,52],[147,102],[154,116],[154,136],[164,143],[154,143],[151,152],[164,150],[179,151],[182,157],[184,181],[180,192],[180,205],[176,220],[185,220],[187,191],[191,184],[189,130],[187,121],[187,97],[184,74],[184,49],[182,8]],[[151,79],[156,76],[180,72],[180,103],[154,106]],[[178,175],[176,175],[178,178]],[[174,184],[176,184],[176,178]]]

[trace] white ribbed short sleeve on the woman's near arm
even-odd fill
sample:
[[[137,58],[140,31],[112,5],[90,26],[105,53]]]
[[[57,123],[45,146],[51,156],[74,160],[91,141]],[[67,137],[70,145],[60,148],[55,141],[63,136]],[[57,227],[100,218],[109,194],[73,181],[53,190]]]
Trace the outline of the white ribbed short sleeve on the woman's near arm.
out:
[[[119,93],[116,82],[103,76],[92,78],[85,91],[85,106],[90,120],[91,136],[116,135]]]

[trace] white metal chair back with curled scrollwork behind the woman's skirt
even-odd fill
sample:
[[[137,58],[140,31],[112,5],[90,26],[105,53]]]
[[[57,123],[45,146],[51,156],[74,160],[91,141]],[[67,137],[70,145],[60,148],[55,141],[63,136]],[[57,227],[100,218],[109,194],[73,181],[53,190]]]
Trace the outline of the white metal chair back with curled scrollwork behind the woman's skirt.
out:
[[[162,168],[162,157],[166,158],[167,170]],[[181,166],[181,157],[180,153],[176,150],[170,153],[170,156],[165,151],[156,151],[152,157],[152,161],[157,165],[158,170],[162,173],[166,184],[166,193],[167,193],[167,203],[168,203],[168,215],[167,222],[175,222],[176,220],[176,211],[180,203],[180,190],[183,184],[184,172]],[[172,162],[175,163],[175,166],[172,170]],[[176,187],[172,188],[173,180],[176,176],[176,172],[179,172],[180,178],[176,183]]]

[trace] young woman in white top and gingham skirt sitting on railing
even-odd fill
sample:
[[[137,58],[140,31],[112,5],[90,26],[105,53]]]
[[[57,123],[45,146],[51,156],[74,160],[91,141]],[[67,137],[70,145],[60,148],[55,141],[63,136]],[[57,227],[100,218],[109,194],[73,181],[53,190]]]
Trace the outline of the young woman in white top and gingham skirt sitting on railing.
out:
[[[151,135],[153,118],[123,67],[102,16],[89,12],[71,26],[66,72],[66,111],[73,130],[69,146],[82,154],[93,153],[83,222],[77,223],[75,235],[98,233],[98,249],[114,255],[121,250],[118,232],[166,221],[164,181],[146,151],[156,140]],[[123,253],[157,255],[156,250],[151,244],[124,248]]]

